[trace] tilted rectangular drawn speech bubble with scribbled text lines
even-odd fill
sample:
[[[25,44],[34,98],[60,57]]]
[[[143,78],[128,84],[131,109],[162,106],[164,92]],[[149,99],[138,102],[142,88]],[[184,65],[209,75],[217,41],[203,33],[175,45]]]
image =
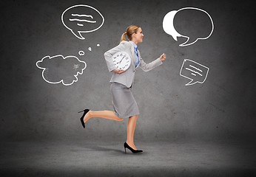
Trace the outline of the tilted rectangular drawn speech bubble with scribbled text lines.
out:
[[[180,75],[191,80],[189,83],[186,83],[186,86],[190,86],[195,83],[203,83],[206,80],[208,72],[208,67],[196,63],[193,60],[184,59]]]

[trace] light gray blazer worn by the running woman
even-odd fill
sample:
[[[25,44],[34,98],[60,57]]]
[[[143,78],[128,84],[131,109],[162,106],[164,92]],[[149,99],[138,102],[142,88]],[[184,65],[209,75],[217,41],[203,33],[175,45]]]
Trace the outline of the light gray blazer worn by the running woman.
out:
[[[157,66],[160,66],[163,62],[160,60],[160,58],[157,58],[156,60],[153,60],[151,63],[146,64],[144,60],[141,58],[141,54],[138,51],[138,58],[140,60],[140,63],[137,67],[135,67],[136,58],[134,53],[134,46],[132,44],[132,41],[121,41],[121,43],[118,46],[115,46],[114,48],[110,49],[109,51],[104,53],[105,60],[107,62],[107,68],[110,72],[112,70],[116,69],[115,64],[112,61],[112,55],[114,55],[116,52],[127,52],[131,58],[131,65],[129,68],[121,73],[117,74],[113,72],[113,75],[111,77],[110,83],[121,83],[124,86],[131,87],[132,83],[134,81],[135,71],[138,68],[138,66],[144,70],[144,72],[148,72],[151,69],[154,69]]]

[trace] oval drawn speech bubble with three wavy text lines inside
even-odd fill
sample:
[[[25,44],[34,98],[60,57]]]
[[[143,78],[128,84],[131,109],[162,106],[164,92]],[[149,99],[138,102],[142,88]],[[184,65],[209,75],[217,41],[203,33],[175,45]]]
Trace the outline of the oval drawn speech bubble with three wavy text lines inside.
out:
[[[81,32],[98,30],[104,24],[104,17],[94,7],[79,4],[67,8],[61,15],[61,21],[75,37],[85,39]]]

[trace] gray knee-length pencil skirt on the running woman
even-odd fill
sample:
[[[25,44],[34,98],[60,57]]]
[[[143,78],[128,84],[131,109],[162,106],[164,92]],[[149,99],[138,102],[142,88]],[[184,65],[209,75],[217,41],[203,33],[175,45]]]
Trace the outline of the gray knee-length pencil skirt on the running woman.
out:
[[[139,114],[138,105],[130,88],[121,83],[111,83],[110,91],[114,113],[117,117],[128,118]]]

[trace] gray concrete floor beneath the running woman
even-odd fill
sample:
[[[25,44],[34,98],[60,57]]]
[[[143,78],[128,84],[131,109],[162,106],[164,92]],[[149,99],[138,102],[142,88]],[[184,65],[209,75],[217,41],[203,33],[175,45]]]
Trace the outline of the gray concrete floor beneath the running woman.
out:
[[[256,176],[255,145],[237,142],[1,142],[1,176]]]

